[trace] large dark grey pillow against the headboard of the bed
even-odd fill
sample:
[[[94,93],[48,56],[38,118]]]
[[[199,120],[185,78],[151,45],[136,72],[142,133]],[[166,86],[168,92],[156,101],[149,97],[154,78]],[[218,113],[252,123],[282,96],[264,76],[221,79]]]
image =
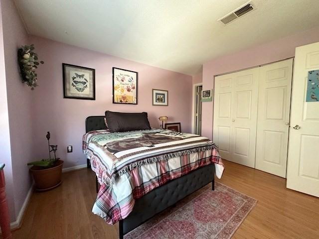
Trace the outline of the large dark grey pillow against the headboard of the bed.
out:
[[[110,132],[151,129],[148,113],[120,113],[106,111],[105,118]]]

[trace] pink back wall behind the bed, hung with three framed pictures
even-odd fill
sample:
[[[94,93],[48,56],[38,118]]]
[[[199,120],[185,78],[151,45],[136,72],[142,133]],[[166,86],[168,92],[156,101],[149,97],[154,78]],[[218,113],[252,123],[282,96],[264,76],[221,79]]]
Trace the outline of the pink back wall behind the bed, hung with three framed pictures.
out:
[[[88,116],[102,116],[106,110],[118,112],[148,112],[151,126],[159,127],[159,116],[170,122],[181,122],[183,131],[191,131],[192,77],[56,41],[30,37],[40,65],[38,84],[33,94],[33,139],[36,158],[47,157],[46,131],[51,143],[58,144],[58,156],[64,167],[85,164],[82,135]],[[62,63],[95,69],[96,100],[63,99]],[[138,105],[112,104],[112,67],[139,72]],[[168,106],[152,106],[152,89],[168,90]],[[73,153],[66,153],[67,145]]]

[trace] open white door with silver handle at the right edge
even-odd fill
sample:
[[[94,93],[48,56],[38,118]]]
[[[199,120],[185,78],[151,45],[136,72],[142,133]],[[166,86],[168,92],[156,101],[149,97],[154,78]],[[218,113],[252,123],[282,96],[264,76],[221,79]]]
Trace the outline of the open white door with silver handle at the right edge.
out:
[[[312,70],[319,70],[319,42],[296,48],[287,188],[319,197],[319,101],[306,102],[307,85],[319,88],[318,78],[308,80]]]

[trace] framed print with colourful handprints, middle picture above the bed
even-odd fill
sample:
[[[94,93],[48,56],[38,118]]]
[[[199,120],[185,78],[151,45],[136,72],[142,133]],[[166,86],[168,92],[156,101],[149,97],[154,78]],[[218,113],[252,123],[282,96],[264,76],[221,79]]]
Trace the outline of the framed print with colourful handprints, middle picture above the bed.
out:
[[[113,67],[113,104],[138,104],[138,73]]]

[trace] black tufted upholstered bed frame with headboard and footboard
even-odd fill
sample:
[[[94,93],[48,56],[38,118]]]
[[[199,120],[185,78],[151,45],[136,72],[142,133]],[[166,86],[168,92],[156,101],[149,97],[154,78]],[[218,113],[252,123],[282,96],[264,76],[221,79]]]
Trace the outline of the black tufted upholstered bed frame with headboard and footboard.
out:
[[[106,129],[104,116],[90,116],[85,120],[86,132],[98,129]],[[90,160],[87,159],[87,166],[91,168]],[[142,198],[135,201],[131,214],[119,222],[119,238],[137,228],[156,214],[176,204],[191,193],[197,191],[208,183],[212,182],[214,190],[215,165],[198,168],[189,174],[169,181],[168,183],[152,190]],[[98,191],[98,182],[96,179]]]

